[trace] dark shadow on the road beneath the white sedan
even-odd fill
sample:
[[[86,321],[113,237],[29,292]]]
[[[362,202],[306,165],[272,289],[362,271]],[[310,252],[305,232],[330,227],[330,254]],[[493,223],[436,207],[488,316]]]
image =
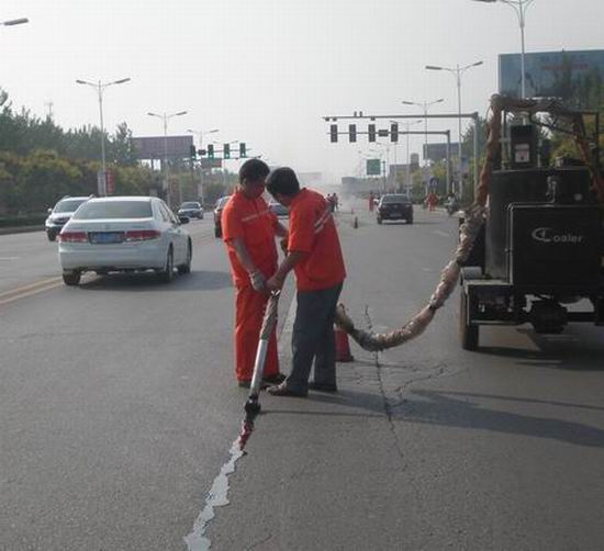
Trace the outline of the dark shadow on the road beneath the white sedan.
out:
[[[86,291],[217,291],[233,286],[228,272],[192,271],[175,276],[171,283],[163,283],[155,273],[110,273],[80,283]]]

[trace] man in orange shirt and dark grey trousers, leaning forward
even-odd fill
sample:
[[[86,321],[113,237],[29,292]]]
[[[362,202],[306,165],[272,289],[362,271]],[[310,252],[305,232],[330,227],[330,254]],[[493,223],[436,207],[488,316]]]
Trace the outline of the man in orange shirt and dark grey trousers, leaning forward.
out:
[[[267,392],[301,397],[309,389],[337,392],[334,319],[346,271],[332,210],[320,193],[300,189],[291,168],[271,172],[267,190],[290,209],[288,256],[267,288],[281,289],[293,269],[298,290],[291,373]],[[314,381],[309,383],[313,361]]]

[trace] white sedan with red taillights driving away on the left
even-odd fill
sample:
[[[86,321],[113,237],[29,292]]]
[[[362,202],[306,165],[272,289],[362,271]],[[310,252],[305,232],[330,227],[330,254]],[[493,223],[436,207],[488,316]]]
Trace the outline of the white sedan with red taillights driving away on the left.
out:
[[[77,285],[85,271],[155,270],[170,282],[175,267],[191,271],[192,243],[158,198],[115,196],[82,204],[59,234],[63,281]]]

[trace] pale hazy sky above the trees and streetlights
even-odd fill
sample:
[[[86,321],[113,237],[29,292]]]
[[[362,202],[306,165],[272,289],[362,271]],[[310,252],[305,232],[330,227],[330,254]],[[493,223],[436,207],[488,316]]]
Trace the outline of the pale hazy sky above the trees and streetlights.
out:
[[[513,10],[470,0],[3,0],[0,86],[16,106],[65,127],[98,124],[92,89],[75,79],[132,82],[108,89],[108,130],[163,133],[148,111],[186,116],[170,134],[245,140],[271,164],[355,173],[359,143],[329,144],[326,114],[412,113],[401,100],[445,102],[456,112],[454,76],[424,70],[484,60],[463,80],[463,110],[485,112],[500,53],[519,50]],[[604,48],[604,1],[535,0],[527,52]],[[430,123],[433,130],[457,123]],[[342,128],[344,130],[344,127]],[[456,139],[456,132],[454,139]],[[438,140],[437,138],[435,138]],[[423,138],[412,140],[420,150]],[[401,162],[405,140],[396,148]],[[373,146],[374,147],[374,146]],[[394,151],[391,150],[391,161]],[[235,170],[237,162],[228,168]]]

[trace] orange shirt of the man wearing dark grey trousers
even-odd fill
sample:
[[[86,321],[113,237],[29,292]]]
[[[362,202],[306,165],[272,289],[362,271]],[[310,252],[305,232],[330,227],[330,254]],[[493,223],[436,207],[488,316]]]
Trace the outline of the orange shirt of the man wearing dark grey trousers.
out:
[[[302,189],[290,205],[288,250],[307,252],[294,267],[299,291],[329,289],[344,281],[346,270],[329,203]]]

